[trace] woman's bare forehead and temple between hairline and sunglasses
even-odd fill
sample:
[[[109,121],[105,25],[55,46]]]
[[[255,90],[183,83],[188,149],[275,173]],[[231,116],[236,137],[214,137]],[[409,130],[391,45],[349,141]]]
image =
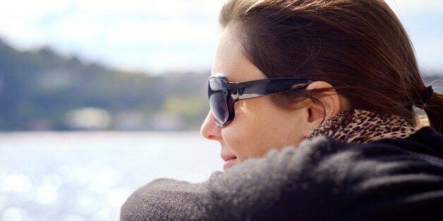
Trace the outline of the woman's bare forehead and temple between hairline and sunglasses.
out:
[[[212,63],[211,75],[222,73],[231,82],[245,82],[266,78],[242,53],[235,27],[227,26],[222,31]]]

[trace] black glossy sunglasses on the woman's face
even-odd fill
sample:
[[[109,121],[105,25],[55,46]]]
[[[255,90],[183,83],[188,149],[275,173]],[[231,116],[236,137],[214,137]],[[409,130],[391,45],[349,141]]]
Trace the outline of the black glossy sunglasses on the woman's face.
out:
[[[233,120],[235,113],[234,104],[237,101],[300,89],[300,87],[293,86],[295,84],[306,84],[307,86],[312,82],[314,81],[300,77],[277,77],[249,82],[229,82],[225,75],[217,73],[208,79],[207,96],[209,96],[210,109],[215,123],[219,127],[224,127]]]

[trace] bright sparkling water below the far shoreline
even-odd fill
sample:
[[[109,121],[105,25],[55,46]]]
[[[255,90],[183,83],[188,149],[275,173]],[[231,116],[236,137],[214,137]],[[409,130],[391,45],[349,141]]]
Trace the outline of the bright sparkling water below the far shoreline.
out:
[[[0,134],[0,219],[119,220],[153,179],[203,182],[222,170],[219,151],[198,132]]]

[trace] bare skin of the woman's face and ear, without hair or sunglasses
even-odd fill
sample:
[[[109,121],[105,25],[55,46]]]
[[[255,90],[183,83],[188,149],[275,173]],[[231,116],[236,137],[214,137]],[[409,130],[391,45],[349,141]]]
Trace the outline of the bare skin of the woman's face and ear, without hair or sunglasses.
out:
[[[230,27],[225,28],[219,41],[212,73],[222,72],[231,82],[248,82],[267,78],[241,52],[241,45]],[[330,87],[326,82],[315,82],[308,87]],[[329,115],[339,113],[337,95],[324,101]],[[344,102],[342,102],[344,103]],[[294,105],[299,105],[294,103]],[[202,134],[208,139],[220,141],[222,156],[246,158],[260,157],[272,147],[298,144],[308,136],[310,129],[320,125],[323,109],[316,105],[308,108],[283,110],[270,101],[269,96],[241,100],[235,104],[235,118],[229,125],[218,127],[208,113],[202,125]],[[310,118],[308,118],[310,115]]]

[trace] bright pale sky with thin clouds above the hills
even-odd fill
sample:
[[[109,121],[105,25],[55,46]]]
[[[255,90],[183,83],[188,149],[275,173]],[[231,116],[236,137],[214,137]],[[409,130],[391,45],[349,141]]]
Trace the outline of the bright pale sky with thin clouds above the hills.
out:
[[[151,73],[210,70],[224,0],[14,0],[0,37],[20,50],[50,46],[83,61]],[[443,70],[443,1],[387,0],[420,68]]]

